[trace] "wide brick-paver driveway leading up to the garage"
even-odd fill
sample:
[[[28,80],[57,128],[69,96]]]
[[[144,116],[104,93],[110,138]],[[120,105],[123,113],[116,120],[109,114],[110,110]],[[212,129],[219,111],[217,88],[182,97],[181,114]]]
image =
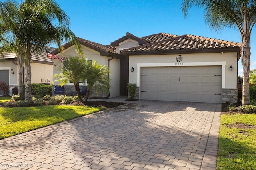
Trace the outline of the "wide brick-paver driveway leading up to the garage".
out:
[[[0,168],[216,169],[219,124],[220,104],[130,102],[0,140]]]

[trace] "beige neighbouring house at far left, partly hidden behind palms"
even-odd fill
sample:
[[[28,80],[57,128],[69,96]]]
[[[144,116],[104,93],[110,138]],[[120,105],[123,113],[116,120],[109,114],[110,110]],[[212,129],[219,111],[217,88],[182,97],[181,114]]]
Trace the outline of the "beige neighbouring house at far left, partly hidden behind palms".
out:
[[[47,47],[48,51],[55,48]],[[6,82],[10,87],[18,86],[18,57],[15,53],[4,52],[0,54],[0,81]],[[31,83],[52,83],[53,62],[47,58],[46,51],[34,53],[31,57]],[[13,72],[11,72],[11,70]],[[23,83],[25,82],[25,63],[23,67]],[[2,95],[2,91],[1,91]]]

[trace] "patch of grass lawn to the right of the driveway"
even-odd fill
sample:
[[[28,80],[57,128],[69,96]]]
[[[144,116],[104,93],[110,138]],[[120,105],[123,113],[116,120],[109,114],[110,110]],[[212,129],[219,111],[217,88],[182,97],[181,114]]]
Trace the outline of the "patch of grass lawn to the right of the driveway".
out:
[[[217,170],[234,169],[256,169],[256,114],[221,115]]]

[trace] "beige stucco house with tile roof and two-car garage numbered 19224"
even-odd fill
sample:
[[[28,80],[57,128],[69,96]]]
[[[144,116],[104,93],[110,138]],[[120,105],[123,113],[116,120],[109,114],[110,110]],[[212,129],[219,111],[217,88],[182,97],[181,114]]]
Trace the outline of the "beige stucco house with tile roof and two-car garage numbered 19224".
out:
[[[78,40],[88,60],[110,67],[110,97],[127,95],[127,83],[136,83],[138,99],[237,103],[240,43],[167,33],[127,33],[110,45]],[[68,43],[64,49],[64,57],[76,55]]]

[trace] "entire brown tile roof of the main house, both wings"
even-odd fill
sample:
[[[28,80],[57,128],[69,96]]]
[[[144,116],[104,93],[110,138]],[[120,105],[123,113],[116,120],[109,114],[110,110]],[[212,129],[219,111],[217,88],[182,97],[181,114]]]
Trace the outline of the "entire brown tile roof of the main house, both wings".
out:
[[[122,54],[129,55],[136,52],[154,53],[156,51],[159,51],[159,52],[165,51],[165,53],[172,53],[174,51],[177,52],[180,50],[184,50],[184,52],[188,52],[188,53],[189,52],[193,52],[193,53],[208,52],[211,50],[216,51],[216,49],[218,50],[226,49],[229,51],[236,51],[236,50],[240,50],[240,47],[241,47],[241,43],[237,43],[237,42],[230,42],[230,41],[207,38],[202,36],[194,36],[190,34],[178,36],[178,35],[168,34],[163,32],[158,34],[152,34],[149,36],[144,36],[141,38],[127,32],[125,36],[112,42],[110,45],[102,45],[89,40],[85,40],[83,38],[78,38],[78,40],[82,45],[88,46],[97,51],[104,52],[104,53],[117,54],[116,46],[118,46],[120,42],[128,38],[138,41],[139,44],[141,45],[138,45],[136,47],[131,47],[128,49],[123,49],[120,55]],[[64,48],[66,49],[68,47],[70,47],[70,45],[69,43],[66,43],[64,45]],[[57,54],[58,49],[55,49],[52,53]]]

